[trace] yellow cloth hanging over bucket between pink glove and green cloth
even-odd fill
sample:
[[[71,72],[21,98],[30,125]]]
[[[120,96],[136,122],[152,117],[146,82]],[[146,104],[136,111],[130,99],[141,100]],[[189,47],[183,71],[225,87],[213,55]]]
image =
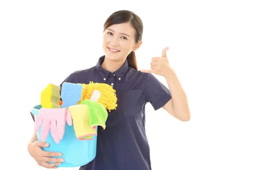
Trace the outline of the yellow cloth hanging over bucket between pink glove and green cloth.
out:
[[[92,140],[97,135],[89,125],[89,109],[87,105],[73,105],[68,108],[73,119],[73,126],[78,140]]]

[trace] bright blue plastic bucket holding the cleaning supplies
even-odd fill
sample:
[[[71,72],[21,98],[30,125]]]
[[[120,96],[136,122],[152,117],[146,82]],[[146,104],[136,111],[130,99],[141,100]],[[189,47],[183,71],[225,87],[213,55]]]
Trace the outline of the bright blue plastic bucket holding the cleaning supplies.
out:
[[[31,110],[35,119],[41,108],[41,105],[37,105]],[[96,127],[96,131],[97,130],[98,127]],[[41,141],[41,127],[38,130],[38,140]],[[94,135],[93,140],[78,140],[73,124],[72,126],[69,126],[67,125],[67,122],[65,133],[63,139],[60,140],[60,143],[56,144],[54,142],[50,132],[45,142],[49,143],[49,147],[44,147],[43,150],[62,153],[62,156],[55,157],[64,159],[64,162],[57,165],[58,167],[80,167],[88,164],[96,156],[97,136]]]

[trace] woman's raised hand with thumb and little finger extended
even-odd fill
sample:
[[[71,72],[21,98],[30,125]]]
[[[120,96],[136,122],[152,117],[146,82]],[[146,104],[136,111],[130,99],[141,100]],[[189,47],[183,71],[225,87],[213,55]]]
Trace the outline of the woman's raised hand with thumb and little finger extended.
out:
[[[162,51],[162,57],[153,57],[150,63],[152,70],[140,70],[144,73],[154,73],[160,76],[165,77],[168,72],[172,69],[169,65],[169,61],[166,55],[166,51],[169,50],[169,47],[166,47]]]

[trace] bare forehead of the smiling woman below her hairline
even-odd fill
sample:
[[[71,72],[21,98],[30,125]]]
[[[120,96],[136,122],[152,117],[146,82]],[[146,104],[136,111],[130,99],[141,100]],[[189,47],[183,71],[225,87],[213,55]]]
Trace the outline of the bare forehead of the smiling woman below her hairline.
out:
[[[108,29],[113,30],[117,34],[128,34],[130,37],[134,37],[136,32],[130,23],[114,24],[108,27]]]

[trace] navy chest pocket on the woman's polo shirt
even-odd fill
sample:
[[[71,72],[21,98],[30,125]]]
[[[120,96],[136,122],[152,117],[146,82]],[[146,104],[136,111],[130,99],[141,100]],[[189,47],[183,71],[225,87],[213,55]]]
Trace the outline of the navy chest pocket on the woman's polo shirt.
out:
[[[143,90],[130,90],[122,93],[121,102],[124,117],[140,117],[145,103]]]

